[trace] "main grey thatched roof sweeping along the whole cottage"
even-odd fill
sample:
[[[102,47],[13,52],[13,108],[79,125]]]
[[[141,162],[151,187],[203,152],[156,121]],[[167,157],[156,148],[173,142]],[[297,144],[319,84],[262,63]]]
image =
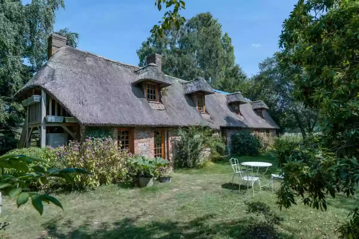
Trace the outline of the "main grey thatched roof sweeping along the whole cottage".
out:
[[[217,92],[205,96],[210,116],[205,119],[186,95],[182,85],[187,85],[186,81],[154,69],[152,65],[141,69],[61,47],[15,97],[23,99],[27,91],[41,87],[85,125],[278,128],[274,122],[257,116],[250,103],[240,106],[243,116],[238,116],[227,105],[227,97]],[[145,99],[143,89],[136,85],[141,79],[171,84],[163,89],[160,98],[165,110]]]

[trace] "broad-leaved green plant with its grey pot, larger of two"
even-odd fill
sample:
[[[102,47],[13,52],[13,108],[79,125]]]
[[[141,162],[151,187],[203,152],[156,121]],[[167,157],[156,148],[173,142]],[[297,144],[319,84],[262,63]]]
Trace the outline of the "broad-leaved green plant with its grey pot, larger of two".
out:
[[[136,172],[140,187],[153,186],[155,175],[158,174],[158,168],[168,165],[169,161],[161,157],[148,159],[142,156],[134,157],[131,164]]]

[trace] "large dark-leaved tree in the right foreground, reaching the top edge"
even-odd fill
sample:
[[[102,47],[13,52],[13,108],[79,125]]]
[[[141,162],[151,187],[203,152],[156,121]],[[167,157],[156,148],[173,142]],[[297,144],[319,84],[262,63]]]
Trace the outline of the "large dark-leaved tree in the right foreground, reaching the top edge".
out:
[[[300,0],[284,21],[280,45],[292,64],[294,93],[319,112],[322,134],[279,153],[285,181],[280,204],[299,195],[305,204],[326,209],[328,194],[355,194],[359,181],[359,1]],[[340,238],[358,238],[358,209]]]

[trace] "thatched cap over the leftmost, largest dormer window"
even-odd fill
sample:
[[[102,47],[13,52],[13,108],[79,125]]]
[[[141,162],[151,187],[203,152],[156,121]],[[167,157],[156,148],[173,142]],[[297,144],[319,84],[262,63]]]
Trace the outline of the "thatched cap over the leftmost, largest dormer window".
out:
[[[171,82],[167,80],[163,72],[158,70],[157,65],[154,63],[149,63],[135,72],[138,75],[138,80],[134,83],[135,85],[147,80],[159,83],[160,88],[171,85]]]

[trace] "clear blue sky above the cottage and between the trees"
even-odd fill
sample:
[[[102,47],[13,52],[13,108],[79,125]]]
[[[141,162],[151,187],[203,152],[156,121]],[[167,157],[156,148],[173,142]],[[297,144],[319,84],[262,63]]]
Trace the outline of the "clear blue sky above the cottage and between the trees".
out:
[[[247,75],[278,50],[283,20],[297,0],[185,0],[181,14],[190,18],[209,11],[232,38],[236,63]],[[78,48],[130,64],[138,64],[136,50],[163,16],[154,0],[65,0],[56,13],[55,31],[68,27],[80,34]]]

